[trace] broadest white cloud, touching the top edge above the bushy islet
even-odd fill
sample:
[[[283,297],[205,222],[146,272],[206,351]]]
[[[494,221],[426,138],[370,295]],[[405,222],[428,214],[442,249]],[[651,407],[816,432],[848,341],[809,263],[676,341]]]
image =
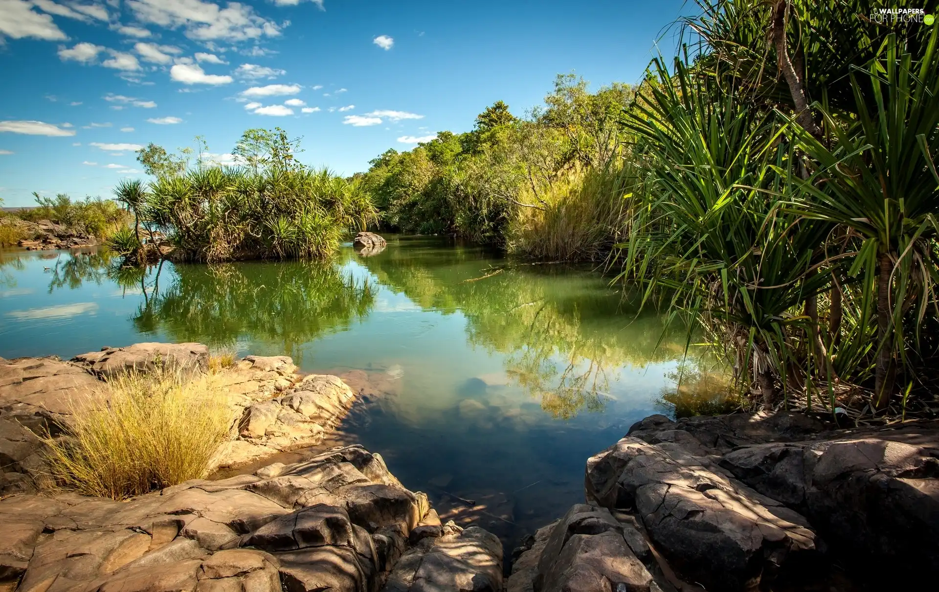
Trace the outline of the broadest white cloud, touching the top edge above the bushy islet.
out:
[[[201,41],[277,37],[287,24],[268,21],[238,2],[229,2],[225,8],[203,0],[128,0],[126,4],[142,23],[183,28],[186,37]]]

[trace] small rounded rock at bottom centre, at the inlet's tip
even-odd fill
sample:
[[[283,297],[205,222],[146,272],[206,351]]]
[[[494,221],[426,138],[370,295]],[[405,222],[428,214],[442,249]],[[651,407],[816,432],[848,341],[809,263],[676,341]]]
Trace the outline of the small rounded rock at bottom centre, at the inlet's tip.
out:
[[[383,592],[500,592],[502,546],[473,526],[459,534],[423,539],[398,560]]]

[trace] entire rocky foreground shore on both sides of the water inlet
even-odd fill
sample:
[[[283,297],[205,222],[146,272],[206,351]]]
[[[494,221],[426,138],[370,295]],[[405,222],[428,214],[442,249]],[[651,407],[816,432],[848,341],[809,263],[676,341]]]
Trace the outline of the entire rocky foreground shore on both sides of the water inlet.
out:
[[[55,490],[38,434],[100,404],[108,378],[158,365],[211,374],[231,410],[211,468],[253,472],[123,502]],[[361,446],[271,463],[331,435],[359,396],[341,378],[289,357],[209,367],[199,343],[0,358],[0,592],[827,592],[939,569],[937,421],[646,417],[586,461],[585,503],[503,562],[482,523],[442,524]],[[833,564],[864,585],[833,585]]]

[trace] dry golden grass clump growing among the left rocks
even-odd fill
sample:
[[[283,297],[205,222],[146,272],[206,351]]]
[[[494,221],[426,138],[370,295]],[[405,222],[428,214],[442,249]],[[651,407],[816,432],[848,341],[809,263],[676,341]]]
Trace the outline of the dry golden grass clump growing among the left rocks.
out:
[[[59,484],[124,499],[206,477],[231,424],[227,395],[209,376],[134,372],[101,394],[106,402],[75,410],[65,437],[46,440]]]

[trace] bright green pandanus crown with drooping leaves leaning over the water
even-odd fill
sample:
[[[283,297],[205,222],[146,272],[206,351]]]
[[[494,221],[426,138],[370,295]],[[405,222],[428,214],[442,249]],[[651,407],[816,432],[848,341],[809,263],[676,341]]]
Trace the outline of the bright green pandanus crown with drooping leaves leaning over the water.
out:
[[[810,273],[827,225],[778,207],[793,155],[773,114],[680,60],[673,74],[655,65],[659,83],[625,120],[646,178],[621,277],[643,281],[647,298],[664,288],[670,310],[721,329],[738,370],[776,402],[776,376],[793,366],[789,326],[805,324],[793,310],[827,285]]]

